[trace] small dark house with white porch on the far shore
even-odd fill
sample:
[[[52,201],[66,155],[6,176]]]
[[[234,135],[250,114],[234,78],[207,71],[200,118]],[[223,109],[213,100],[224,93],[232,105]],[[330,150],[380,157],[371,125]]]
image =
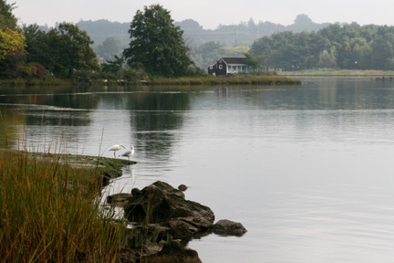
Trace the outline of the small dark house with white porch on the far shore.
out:
[[[226,76],[251,73],[253,68],[247,64],[246,58],[219,58],[216,63],[208,66],[208,74]]]

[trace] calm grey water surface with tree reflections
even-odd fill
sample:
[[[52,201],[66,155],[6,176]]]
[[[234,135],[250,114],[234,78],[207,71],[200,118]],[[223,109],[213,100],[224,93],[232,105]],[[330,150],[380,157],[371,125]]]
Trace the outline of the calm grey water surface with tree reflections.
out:
[[[110,193],[187,184],[187,199],[248,229],[190,242],[204,263],[391,262],[394,81],[309,80],[0,89],[0,143],[108,157],[112,144],[134,144],[139,163]]]

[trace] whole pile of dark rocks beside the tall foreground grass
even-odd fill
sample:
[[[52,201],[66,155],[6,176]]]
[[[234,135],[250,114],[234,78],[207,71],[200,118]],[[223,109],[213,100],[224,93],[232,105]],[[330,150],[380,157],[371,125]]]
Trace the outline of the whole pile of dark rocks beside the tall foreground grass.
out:
[[[178,188],[184,189],[181,185]],[[127,229],[125,244],[128,245],[124,247],[122,262],[200,263],[198,253],[186,247],[193,237],[212,232],[222,236],[244,235],[246,229],[241,223],[219,220],[213,225],[211,208],[186,200],[179,189],[158,181],[142,190],[131,190],[124,215],[136,224]]]

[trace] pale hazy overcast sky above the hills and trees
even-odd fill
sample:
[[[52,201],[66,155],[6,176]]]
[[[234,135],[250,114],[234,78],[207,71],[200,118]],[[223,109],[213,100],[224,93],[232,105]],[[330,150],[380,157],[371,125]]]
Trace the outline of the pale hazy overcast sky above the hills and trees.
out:
[[[14,15],[20,24],[54,26],[55,22],[107,19],[130,22],[138,9],[160,4],[173,20],[192,18],[205,29],[239,24],[252,17],[255,23],[268,21],[293,24],[305,14],[316,23],[357,22],[360,25],[394,25],[393,0],[6,0],[16,2]]]

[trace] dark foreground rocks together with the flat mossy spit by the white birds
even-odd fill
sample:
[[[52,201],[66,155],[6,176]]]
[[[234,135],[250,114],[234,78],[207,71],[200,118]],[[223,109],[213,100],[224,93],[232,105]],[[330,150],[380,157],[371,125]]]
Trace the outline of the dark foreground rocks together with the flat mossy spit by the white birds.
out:
[[[97,169],[98,184],[105,187],[110,180],[122,175],[121,169],[136,162],[101,156],[29,153],[35,158],[47,158],[83,168]],[[72,187],[72,185],[70,185]],[[131,193],[107,196],[108,205],[124,209],[125,242],[120,262],[202,262],[197,251],[187,247],[193,238],[210,234],[241,237],[246,229],[241,223],[219,220],[214,223],[213,210],[187,200],[187,186],[178,189],[158,181]],[[131,226],[131,227],[130,227]]]

